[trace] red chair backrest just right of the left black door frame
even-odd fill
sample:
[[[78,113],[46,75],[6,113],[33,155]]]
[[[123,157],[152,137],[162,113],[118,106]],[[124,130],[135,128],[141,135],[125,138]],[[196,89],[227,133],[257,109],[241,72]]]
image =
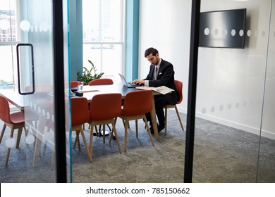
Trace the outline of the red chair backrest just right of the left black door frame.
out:
[[[71,124],[72,126],[82,125],[89,122],[90,112],[87,98],[72,97],[71,98]]]

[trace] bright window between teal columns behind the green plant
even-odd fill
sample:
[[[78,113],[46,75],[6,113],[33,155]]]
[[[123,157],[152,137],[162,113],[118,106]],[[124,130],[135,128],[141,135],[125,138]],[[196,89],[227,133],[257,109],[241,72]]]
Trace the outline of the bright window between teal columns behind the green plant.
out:
[[[83,65],[92,61],[104,77],[118,77],[123,68],[124,0],[83,0]]]

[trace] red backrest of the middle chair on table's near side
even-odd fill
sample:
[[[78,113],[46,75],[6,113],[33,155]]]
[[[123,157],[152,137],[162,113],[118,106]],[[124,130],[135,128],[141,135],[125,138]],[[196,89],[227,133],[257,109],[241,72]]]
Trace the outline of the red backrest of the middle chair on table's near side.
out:
[[[90,120],[109,120],[121,115],[121,94],[97,94],[90,103]]]

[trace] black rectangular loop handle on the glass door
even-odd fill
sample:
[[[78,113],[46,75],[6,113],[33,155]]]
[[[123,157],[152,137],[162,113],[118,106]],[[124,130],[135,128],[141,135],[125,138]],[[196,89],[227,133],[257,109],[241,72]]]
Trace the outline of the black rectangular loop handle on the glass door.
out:
[[[17,74],[19,94],[35,93],[35,67],[32,44],[17,44]],[[22,65],[22,66],[21,66]],[[27,66],[28,65],[28,66]],[[21,81],[23,79],[23,81]]]

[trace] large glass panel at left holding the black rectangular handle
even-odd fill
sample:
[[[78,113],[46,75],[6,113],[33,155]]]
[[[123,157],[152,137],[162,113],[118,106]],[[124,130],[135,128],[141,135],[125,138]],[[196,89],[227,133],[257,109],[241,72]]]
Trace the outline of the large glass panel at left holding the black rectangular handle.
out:
[[[66,81],[67,8],[64,0]],[[1,154],[6,158],[6,165],[0,165],[1,172],[5,172],[1,173],[0,182],[56,182],[53,11],[51,0],[0,2],[0,94],[8,100],[10,113],[23,117],[23,122],[16,124],[14,134],[12,127],[0,122],[1,128],[6,127],[1,141]],[[67,125],[68,120],[67,117]],[[69,127],[66,128],[69,135]],[[67,174],[70,176],[69,146],[66,152]]]

